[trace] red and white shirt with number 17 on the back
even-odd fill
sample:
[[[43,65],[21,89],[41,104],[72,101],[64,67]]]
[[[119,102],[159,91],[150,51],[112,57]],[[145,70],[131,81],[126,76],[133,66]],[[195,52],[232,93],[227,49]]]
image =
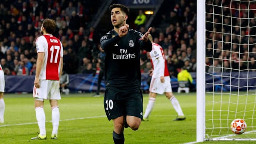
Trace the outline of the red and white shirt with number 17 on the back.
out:
[[[60,57],[63,57],[63,46],[60,40],[51,34],[40,36],[36,40],[37,53],[44,52],[40,80],[59,80]]]

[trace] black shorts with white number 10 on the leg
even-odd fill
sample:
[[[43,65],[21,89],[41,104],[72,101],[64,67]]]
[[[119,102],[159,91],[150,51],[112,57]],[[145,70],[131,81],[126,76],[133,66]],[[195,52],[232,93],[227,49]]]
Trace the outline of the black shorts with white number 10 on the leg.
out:
[[[109,121],[124,115],[135,116],[142,119],[142,92],[141,90],[136,90],[126,93],[106,88],[104,108]]]

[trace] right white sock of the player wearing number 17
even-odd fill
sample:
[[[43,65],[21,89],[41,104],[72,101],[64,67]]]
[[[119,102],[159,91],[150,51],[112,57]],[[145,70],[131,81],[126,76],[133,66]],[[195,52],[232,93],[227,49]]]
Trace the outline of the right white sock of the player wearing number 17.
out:
[[[59,107],[58,106],[52,107],[52,124],[53,124],[52,135],[58,134],[59,118],[60,118]]]

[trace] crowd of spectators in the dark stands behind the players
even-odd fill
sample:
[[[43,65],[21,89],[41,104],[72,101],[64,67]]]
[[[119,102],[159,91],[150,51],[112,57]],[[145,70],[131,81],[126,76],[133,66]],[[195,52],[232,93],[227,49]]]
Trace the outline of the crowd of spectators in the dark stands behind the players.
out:
[[[59,38],[64,48],[63,69],[68,74],[95,73],[102,62],[98,60],[100,53],[100,37],[105,33],[97,31],[90,25],[93,14],[102,0],[94,1],[68,1],[68,0],[16,0],[11,2],[4,0],[0,2],[0,59],[5,75],[33,75],[36,70],[36,46],[35,41],[41,35],[40,27],[45,18],[52,18],[57,23],[54,36]],[[211,0],[207,1],[209,4]],[[220,1],[214,1],[215,5],[220,5]],[[239,4],[233,2],[232,6]],[[230,1],[224,1],[224,6],[229,7]],[[223,16],[210,14],[222,12],[220,7],[206,5],[207,22],[207,65],[233,66],[238,69],[238,52],[243,53],[244,60],[255,57],[256,47],[254,37],[249,35],[255,33],[255,28],[242,28],[238,31],[239,21],[234,17],[248,17],[246,11],[239,15],[237,10],[229,11],[224,9]],[[185,66],[189,72],[196,71],[196,1],[180,0],[176,5],[171,5],[170,9],[159,11],[161,21],[158,25],[152,25],[151,35],[155,43],[159,43],[165,52],[168,69],[172,77],[177,77],[180,68]],[[245,6],[244,9],[247,9]],[[255,17],[255,12],[250,11],[250,16]],[[230,14],[233,19],[230,18]],[[214,17],[214,20],[213,20]],[[226,24],[224,28],[218,24]],[[213,23],[217,32],[212,32]],[[229,24],[236,24],[230,27]],[[255,26],[255,19],[250,22],[242,21],[241,26]],[[135,29],[135,28],[134,28]],[[142,33],[147,31],[144,25],[138,29]],[[223,30],[223,31],[222,31]],[[240,34],[243,37],[232,36]],[[224,33],[224,34],[223,34]],[[246,36],[247,35],[247,36]],[[228,41],[232,38],[232,43]],[[223,44],[222,44],[222,41]],[[249,44],[249,45],[248,45]],[[223,51],[222,50],[227,50]],[[230,50],[232,47],[232,51]],[[241,48],[240,48],[241,47]],[[230,52],[228,52],[230,50]],[[249,57],[246,53],[250,52]],[[214,53],[214,56],[212,56]],[[219,58],[225,58],[227,62],[222,62]],[[230,58],[231,57],[231,58]],[[214,58],[210,59],[210,58]],[[216,62],[215,62],[216,61]],[[250,63],[250,68],[256,68],[256,63]],[[141,51],[141,71],[147,73],[151,69],[149,54]],[[244,68],[247,68],[244,63]],[[247,64],[248,65],[248,64]],[[209,67],[208,67],[209,68]],[[208,70],[207,68],[207,70]],[[217,72],[217,69],[214,69]],[[227,69],[225,69],[227,70]]]

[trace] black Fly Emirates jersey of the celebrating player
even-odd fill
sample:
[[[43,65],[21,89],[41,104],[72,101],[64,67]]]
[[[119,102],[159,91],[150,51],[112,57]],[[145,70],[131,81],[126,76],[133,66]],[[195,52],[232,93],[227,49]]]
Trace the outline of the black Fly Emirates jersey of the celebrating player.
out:
[[[152,44],[141,40],[141,32],[129,29],[126,36],[120,38],[114,30],[101,38],[105,50],[106,87],[117,91],[134,91],[140,89],[140,49],[148,52]]]

